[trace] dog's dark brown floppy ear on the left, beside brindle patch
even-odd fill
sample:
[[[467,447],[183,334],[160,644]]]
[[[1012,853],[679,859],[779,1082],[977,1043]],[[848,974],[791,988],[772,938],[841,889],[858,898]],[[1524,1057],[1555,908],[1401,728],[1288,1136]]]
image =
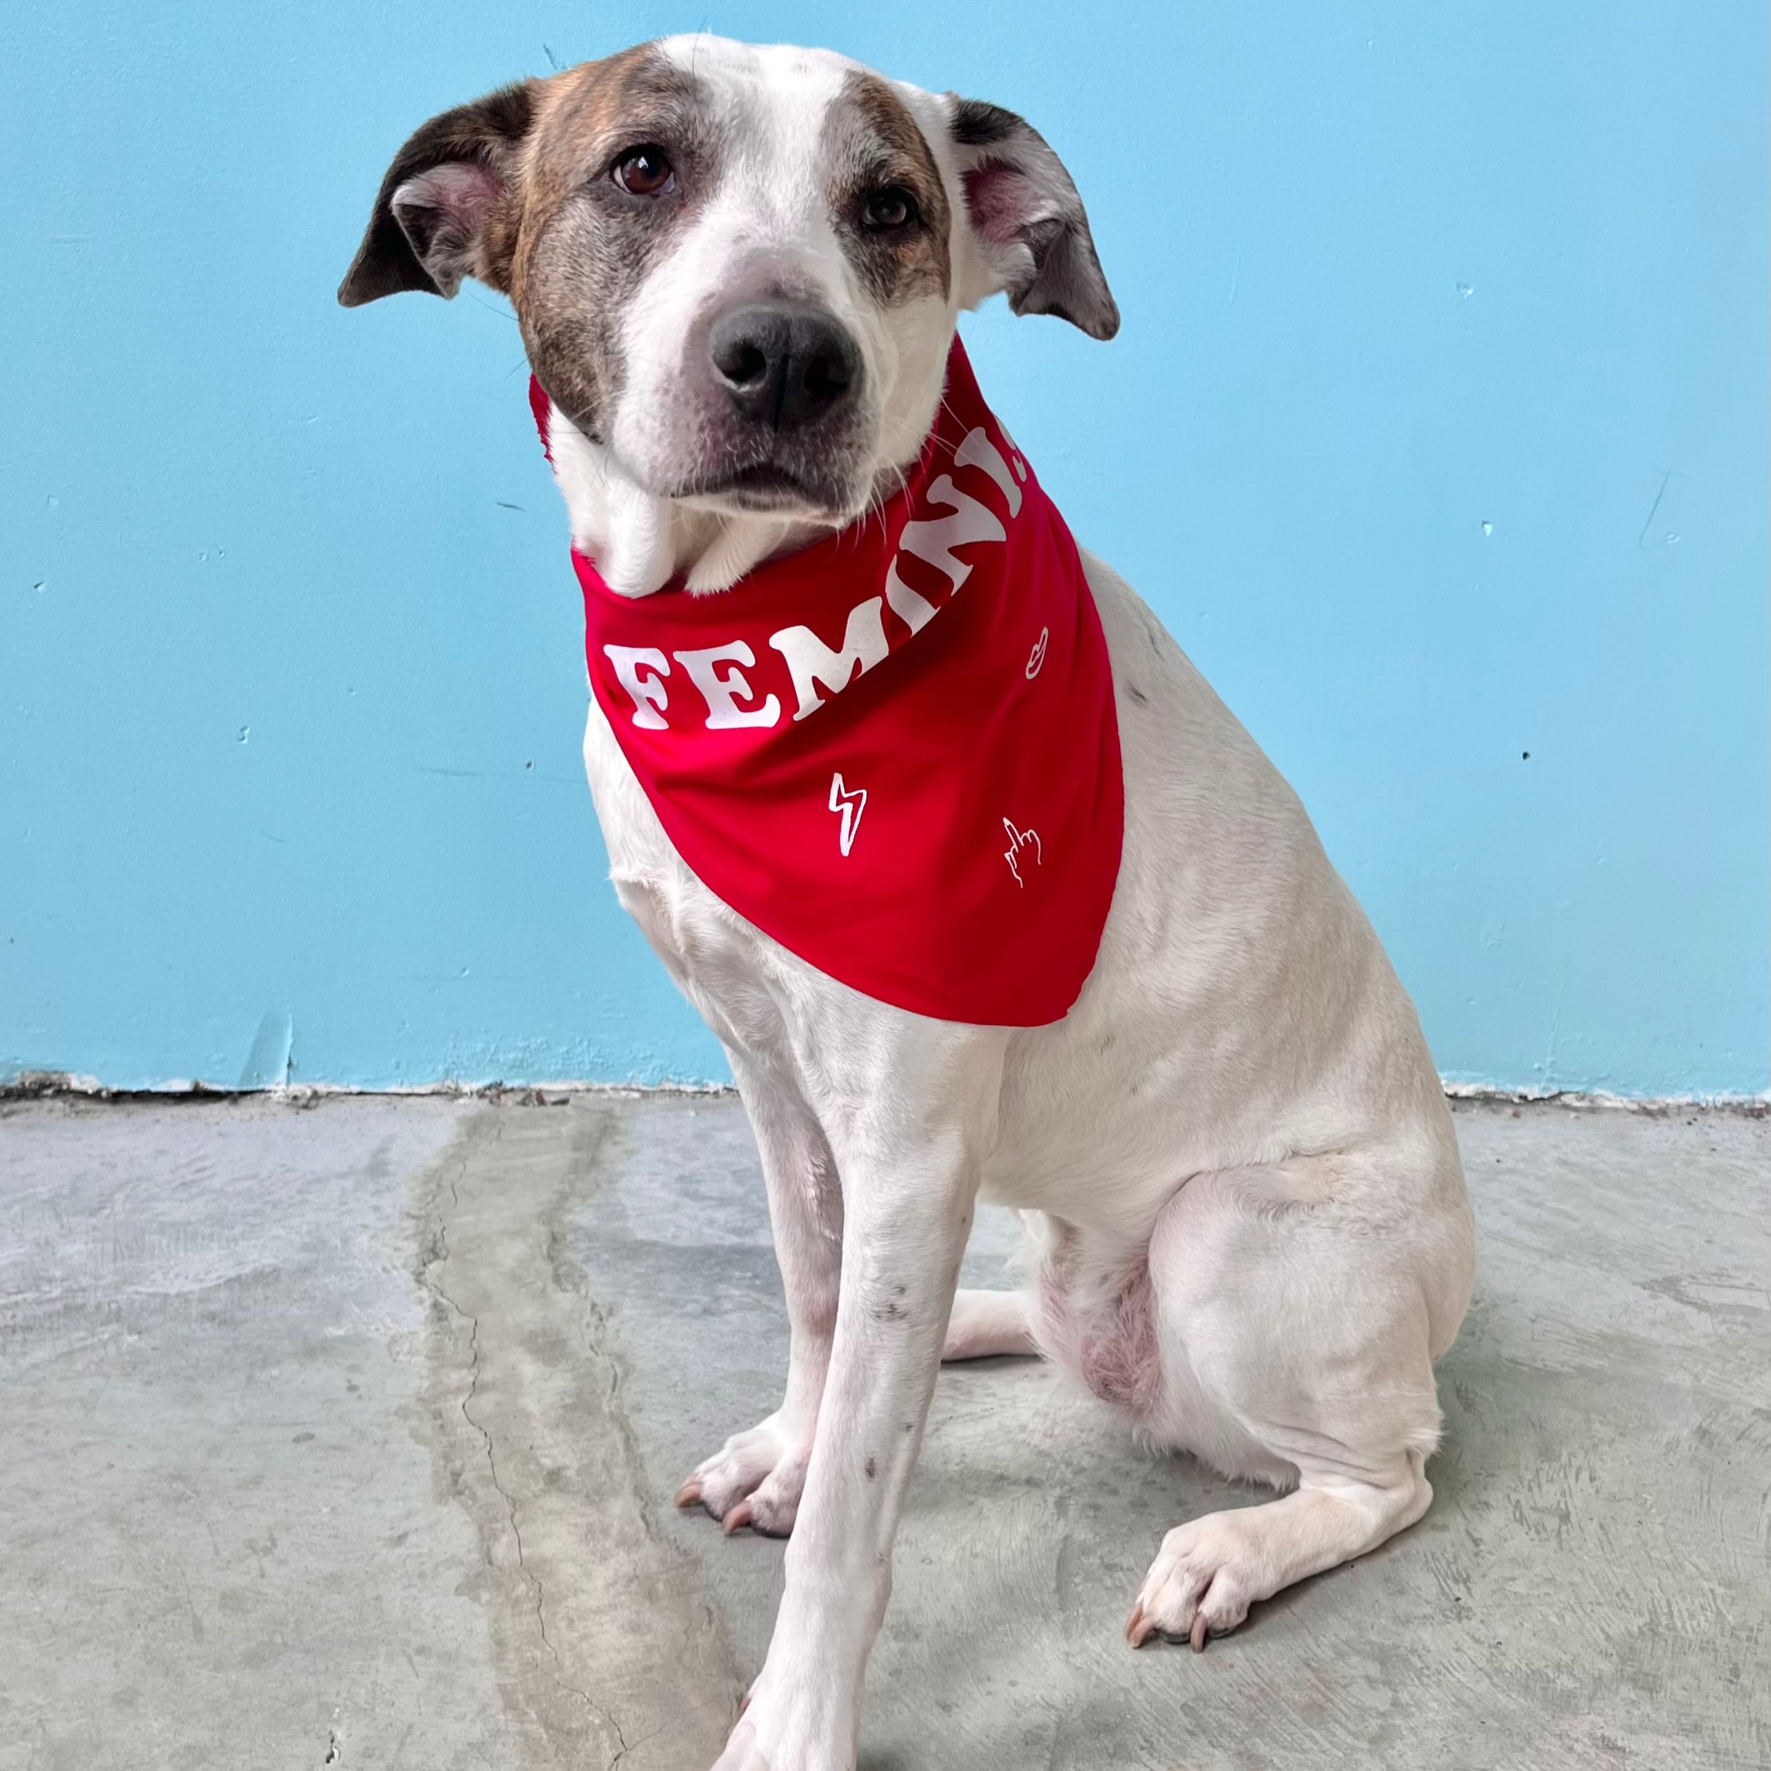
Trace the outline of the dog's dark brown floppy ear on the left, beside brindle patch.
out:
[[[453,296],[464,276],[508,294],[508,225],[517,154],[535,117],[535,83],[519,81],[432,117],[393,156],[375,213],[338,285],[338,303],[423,289]]]

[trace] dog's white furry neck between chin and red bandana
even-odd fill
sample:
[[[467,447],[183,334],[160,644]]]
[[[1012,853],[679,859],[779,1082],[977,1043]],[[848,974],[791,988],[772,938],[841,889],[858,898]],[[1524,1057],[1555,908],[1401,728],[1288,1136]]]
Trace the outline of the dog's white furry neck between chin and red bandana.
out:
[[[650,597],[678,574],[696,595],[730,590],[765,560],[799,553],[831,533],[795,517],[726,515],[657,498],[558,407],[547,441],[572,545],[623,597]]]

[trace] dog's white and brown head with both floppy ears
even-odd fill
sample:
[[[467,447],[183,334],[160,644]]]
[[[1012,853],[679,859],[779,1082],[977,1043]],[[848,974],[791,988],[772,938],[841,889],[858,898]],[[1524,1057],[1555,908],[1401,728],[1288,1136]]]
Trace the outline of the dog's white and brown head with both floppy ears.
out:
[[[643,44],[427,122],[338,299],[510,296],[554,407],[653,499],[843,524],[916,457],[962,308],[1110,338],[1063,163],[1011,112],[824,51]]]

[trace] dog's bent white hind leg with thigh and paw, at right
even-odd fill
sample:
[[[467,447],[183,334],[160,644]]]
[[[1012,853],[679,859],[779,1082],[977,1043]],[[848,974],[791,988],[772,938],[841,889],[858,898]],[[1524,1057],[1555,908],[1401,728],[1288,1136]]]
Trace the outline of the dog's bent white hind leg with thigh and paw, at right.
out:
[[[1427,1511],[1433,1353],[1470,1282],[1454,1151],[1449,1164],[1392,1188],[1383,1160],[1293,1158],[1199,1176],[1164,1211],[1149,1250],[1164,1388],[1146,1427],[1295,1488],[1171,1530],[1126,1624],[1133,1647],[1203,1649]]]

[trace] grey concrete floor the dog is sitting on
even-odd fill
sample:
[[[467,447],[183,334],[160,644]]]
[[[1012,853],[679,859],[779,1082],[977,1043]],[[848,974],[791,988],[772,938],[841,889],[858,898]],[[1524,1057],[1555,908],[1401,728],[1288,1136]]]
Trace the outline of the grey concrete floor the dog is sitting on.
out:
[[[1771,1125],[1458,1125],[1426,1521],[1132,1654],[1164,1530],[1254,1496],[949,1369],[868,1771],[1771,1764]],[[705,1771],[781,1544],[669,1495],[785,1339],[728,1098],[0,1105],[0,1771]]]

